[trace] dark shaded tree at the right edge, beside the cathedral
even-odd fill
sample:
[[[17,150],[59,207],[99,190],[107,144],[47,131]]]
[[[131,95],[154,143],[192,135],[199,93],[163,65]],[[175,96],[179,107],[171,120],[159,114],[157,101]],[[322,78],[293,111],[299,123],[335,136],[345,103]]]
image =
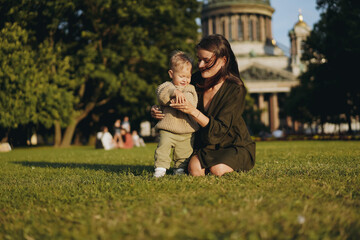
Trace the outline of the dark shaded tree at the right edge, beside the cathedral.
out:
[[[294,109],[303,108],[321,123],[338,121],[344,114],[351,132],[351,117],[360,114],[360,82],[354,60],[360,55],[360,2],[317,0],[317,7],[323,12],[306,41],[303,56],[309,63],[308,71],[300,77],[301,86],[292,91],[290,99],[308,94],[311,104],[303,99]]]

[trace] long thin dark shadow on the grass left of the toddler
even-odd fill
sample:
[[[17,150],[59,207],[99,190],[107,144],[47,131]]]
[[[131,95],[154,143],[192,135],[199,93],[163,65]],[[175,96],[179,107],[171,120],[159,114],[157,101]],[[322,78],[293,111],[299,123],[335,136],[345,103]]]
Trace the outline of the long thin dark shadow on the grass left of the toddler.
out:
[[[40,168],[82,168],[90,170],[102,170],[113,173],[132,173],[135,176],[142,175],[144,172],[153,172],[153,166],[134,166],[134,165],[112,165],[112,164],[90,164],[90,163],[59,163],[59,162],[12,162],[26,167]]]

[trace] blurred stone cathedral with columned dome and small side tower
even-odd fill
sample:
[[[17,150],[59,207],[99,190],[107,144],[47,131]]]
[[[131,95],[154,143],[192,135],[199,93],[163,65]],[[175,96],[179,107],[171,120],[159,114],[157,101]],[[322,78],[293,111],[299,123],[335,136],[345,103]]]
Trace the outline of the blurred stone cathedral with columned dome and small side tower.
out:
[[[270,0],[208,0],[201,11],[203,36],[222,34],[229,40],[238,61],[240,75],[262,109],[261,121],[271,131],[291,127],[283,113],[286,95],[299,84],[297,76],[305,71],[301,62],[309,26],[299,21],[290,30],[290,57],[272,37],[271,19],[275,9]]]

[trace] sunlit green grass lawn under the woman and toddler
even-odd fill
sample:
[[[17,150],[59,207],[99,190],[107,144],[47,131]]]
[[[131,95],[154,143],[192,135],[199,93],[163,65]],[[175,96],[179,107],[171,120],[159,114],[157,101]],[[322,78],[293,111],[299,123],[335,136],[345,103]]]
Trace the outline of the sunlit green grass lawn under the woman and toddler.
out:
[[[248,173],[152,177],[156,144],[0,153],[0,239],[359,239],[360,142],[259,142]]]

